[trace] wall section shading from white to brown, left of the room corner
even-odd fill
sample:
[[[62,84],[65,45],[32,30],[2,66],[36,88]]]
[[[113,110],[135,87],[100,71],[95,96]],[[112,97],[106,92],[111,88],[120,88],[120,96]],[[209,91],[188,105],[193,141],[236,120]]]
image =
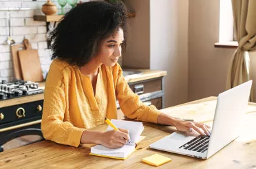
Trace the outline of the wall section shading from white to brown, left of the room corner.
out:
[[[166,70],[165,106],[188,99],[189,0],[150,1],[150,68]]]

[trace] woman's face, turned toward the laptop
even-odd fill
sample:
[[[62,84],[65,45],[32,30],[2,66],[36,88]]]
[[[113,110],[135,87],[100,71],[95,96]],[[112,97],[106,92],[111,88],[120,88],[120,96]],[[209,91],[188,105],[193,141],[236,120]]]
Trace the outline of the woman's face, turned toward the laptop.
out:
[[[115,34],[100,43],[99,52],[95,57],[96,60],[106,66],[113,67],[116,65],[118,58],[122,56],[121,51],[123,41],[124,32],[122,31],[122,28],[119,28]]]

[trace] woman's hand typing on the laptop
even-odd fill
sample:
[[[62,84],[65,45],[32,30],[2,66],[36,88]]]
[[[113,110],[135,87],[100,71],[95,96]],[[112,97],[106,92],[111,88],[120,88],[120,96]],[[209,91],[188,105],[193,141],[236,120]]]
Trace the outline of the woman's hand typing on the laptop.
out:
[[[174,126],[177,128],[178,131],[182,132],[191,132],[193,129],[200,133],[200,135],[211,135],[209,128],[206,124],[198,123],[198,122],[188,122],[184,120],[175,120],[173,122]],[[192,129],[193,128],[193,129]]]

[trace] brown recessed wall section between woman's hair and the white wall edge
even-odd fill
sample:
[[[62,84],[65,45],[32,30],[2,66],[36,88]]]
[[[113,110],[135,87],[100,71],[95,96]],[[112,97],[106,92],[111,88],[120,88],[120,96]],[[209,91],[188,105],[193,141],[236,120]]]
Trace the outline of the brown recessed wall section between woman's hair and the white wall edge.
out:
[[[136,17],[129,18],[130,34],[127,52],[122,57],[124,67],[140,69],[150,67],[149,2],[149,0],[124,0],[129,11],[136,12]]]

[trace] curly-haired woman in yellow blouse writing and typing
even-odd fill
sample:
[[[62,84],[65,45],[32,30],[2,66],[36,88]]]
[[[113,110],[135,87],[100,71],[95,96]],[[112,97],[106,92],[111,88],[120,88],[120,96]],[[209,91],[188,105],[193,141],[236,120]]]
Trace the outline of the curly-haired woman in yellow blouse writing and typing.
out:
[[[209,126],[165,115],[140,102],[131,91],[117,63],[127,32],[123,3],[90,1],[64,16],[51,34],[54,61],[45,83],[41,124],[45,139],[76,147],[85,143],[123,146],[128,131],[87,131],[104,124],[105,117],[116,119],[116,99],[130,119],[209,135]]]

